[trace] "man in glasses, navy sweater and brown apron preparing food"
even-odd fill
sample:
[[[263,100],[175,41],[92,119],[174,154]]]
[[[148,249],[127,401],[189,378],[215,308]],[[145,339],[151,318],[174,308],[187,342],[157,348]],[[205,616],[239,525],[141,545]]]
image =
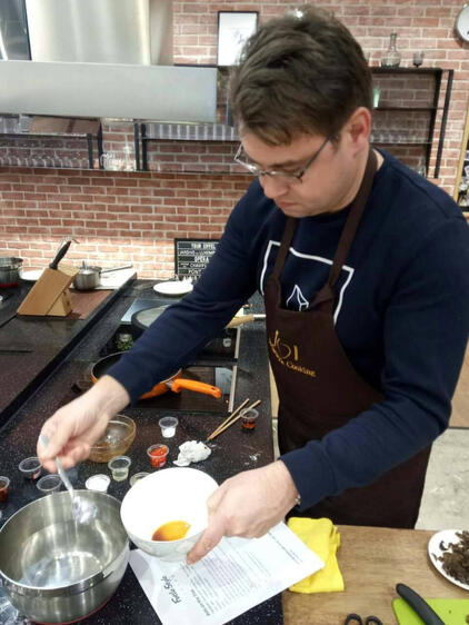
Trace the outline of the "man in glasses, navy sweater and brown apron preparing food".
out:
[[[261,27],[231,83],[257,176],[192,294],[110,375],[43,426],[49,469],[83,459],[109,418],[190,361],[259,289],[280,397],[279,460],[210,498],[197,562],[223,535],[295,514],[412,527],[448,425],[469,326],[469,234],[440,189],[370,149],[371,76],[335,18]]]

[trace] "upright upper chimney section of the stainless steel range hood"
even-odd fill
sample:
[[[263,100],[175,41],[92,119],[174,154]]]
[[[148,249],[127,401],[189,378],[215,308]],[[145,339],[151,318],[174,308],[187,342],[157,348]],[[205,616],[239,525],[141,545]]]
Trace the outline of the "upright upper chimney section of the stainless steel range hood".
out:
[[[33,61],[172,63],[172,0],[26,0]]]

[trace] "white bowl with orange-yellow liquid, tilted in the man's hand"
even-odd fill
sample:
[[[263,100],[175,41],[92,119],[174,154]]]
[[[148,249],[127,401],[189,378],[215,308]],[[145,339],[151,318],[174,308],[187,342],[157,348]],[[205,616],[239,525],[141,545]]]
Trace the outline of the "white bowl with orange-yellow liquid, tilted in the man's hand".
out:
[[[120,508],[129,538],[147,554],[169,562],[183,560],[207,527],[207,499],[217,488],[212,477],[187,467],[160,469],[139,479]],[[152,540],[153,533],[171,520],[190,524],[184,538]]]

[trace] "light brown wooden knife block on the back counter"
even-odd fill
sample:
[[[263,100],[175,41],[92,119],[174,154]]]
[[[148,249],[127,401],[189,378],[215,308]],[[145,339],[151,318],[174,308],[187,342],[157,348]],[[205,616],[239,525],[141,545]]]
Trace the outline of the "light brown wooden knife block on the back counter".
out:
[[[18,315],[66,317],[72,309],[68,287],[78,271],[77,268],[64,265],[60,269],[47,267],[20,304]]]

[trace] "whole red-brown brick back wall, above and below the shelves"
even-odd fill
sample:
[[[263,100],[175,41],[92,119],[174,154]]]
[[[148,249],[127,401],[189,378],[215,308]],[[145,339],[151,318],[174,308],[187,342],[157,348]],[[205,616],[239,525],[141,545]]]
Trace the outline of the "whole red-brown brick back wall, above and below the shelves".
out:
[[[258,10],[262,21],[295,4],[298,3],[278,0],[174,1],[174,61],[216,62],[219,10]],[[453,33],[461,1],[322,0],[318,4],[332,10],[350,28],[370,53],[371,65],[379,65],[389,34],[396,30],[401,66],[410,67],[413,51],[425,50],[423,67],[455,69],[439,180],[452,195],[469,93],[469,46]],[[378,120],[377,127],[379,130]],[[126,135],[128,129],[108,130],[104,150],[116,149],[122,136],[131,139],[131,135]],[[64,159],[73,158],[67,145],[54,149],[62,150]],[[132,261],[141,277],[170,277],[172,239],[218,238],[231,207],[248,185],[249,178],[239,173],[204,172],[210,165],[218,167],[218,171],[227,170],[232,149],[233,143],[152,142],[149,173],[3,168],[0,255],[21,256],[26,267],[42,267],[62,236],[72,234],[80,241],[70,251],[70,258],[77,262],[87,258],[111,267]],[[398,155],[402,159],[418,158],[413,148]],[[86,155],[77,149],[74,157],[84,159]],[[44,159],[38,160],[38,165],[47,165]],[[167,172],[173,168],[183,171],[184,163],[199,166],[201,173]]]

